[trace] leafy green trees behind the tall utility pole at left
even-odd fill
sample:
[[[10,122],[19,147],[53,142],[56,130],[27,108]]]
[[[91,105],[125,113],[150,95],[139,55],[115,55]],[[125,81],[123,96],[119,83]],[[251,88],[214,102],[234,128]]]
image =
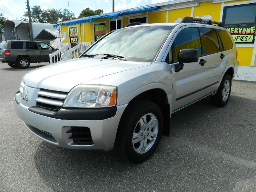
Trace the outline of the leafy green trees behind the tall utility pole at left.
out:
[[[22,21],[28,21],[28,12],[24,12],[25,18],[21,18]],[[68,9],[47,9],[42,10],[39,5],[35,5],[31,8],[32,22],[40,23],[57,23],[61,21],[67,21],[75,19],[75,14]]]

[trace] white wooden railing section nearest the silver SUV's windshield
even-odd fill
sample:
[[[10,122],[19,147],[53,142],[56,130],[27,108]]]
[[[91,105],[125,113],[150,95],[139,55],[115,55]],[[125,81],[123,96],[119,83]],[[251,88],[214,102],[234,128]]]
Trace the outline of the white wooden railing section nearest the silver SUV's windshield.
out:
[[[72,58],[78,58],[84,51],[86,51],[92,45],[91,42],[80,43],[74,46],[72,49],[67,50],[61,54],[62,60],[69,60]]]

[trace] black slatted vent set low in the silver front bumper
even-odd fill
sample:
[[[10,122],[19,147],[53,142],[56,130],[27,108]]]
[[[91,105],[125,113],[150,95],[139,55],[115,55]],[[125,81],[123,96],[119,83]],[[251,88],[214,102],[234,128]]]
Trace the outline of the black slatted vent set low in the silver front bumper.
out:
[[[93,144],[91,130],[88,127],[71,127],[71,130],[67,131],[67,133],[72,134],[69,139],[72,139],[75,144]]]

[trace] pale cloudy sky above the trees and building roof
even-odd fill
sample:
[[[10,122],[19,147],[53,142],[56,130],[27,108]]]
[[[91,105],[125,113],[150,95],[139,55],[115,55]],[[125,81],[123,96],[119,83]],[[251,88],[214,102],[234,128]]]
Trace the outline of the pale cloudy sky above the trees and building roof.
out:
[[[115,0],[115,10],[125,10],[168,0]],[[22,17],[26,11],[26,0],[0,0],[0,12],[10,20]],[[112,12],[112,0],[30,0],[30,7],[40,5],[42,9],[69,9],[76,15],[90,7],[92,10],[103,9],[104,13]]]

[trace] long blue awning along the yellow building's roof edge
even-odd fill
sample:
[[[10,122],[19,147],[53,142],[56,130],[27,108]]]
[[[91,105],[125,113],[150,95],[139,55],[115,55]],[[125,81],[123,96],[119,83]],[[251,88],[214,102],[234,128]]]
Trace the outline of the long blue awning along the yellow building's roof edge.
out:
[[[76,21],[58,23],[58,24],[53,25],[53,27],[56,28],[59,25],[68,26],[68,25],[81,24],[81,23],[92,22],[94,20],[103,19],[103,18],[116,19],[116,18],[118,18],[118,16],[140,13],[140,12],[147,12],[147,11],[152,11],[152,10],[156,10],[156,9],[159,9],[159,7],[151,7],[151,8],[146,8],[146,9],[132,10],[132,11],[114,12],[114,13],[109,13],[109,14],[106,14],[106,15],[96,15],[96,16],[91,16],[91,17],[79,19],[79,20],[76,20]]]

